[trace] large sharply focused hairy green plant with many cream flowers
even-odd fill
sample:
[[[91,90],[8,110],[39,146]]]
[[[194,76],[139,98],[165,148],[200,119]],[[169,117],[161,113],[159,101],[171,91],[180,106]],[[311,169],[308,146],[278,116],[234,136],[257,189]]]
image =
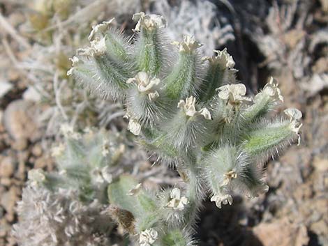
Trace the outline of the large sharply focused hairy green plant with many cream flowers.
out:
[[[142,246],[195,245],[191,233],[201,201],[209,195],[221,208],[234,193],[267,192],[263,164],[299,139],[301,112],[286,109],[271,78],[253,98],[235,84],[227,49],[201,58],[192,36],[165,38],[159,15],[138,13],[135,38],[111,21],[94,26],[90,47],[79,49],[68,75],[98,93],[124,102],[128,130],[147,150],[174,164],[184,187],[153,194],[137,180],[121,176],[109,185],[115,220]]]

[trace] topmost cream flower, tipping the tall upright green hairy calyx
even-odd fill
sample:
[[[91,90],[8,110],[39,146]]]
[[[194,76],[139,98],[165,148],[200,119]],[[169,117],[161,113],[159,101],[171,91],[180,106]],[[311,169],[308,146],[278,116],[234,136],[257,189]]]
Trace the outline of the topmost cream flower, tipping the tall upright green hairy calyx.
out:
[[[143,27],[149,31],[153,29],[163,28],[166,26],[166,20],[161,15],[146,15],[143,12],[134,14],[132,20],[136,21],[135,29],[133,31],[140,31]]]

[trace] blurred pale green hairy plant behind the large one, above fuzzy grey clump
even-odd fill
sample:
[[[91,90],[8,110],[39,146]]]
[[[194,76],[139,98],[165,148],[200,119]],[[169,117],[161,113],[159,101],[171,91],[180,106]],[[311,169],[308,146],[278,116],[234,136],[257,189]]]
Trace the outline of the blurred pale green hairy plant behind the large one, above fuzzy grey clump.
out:
[[[106,189],[121,172],[126,146],[118,134],[87,128],[82,133],[63,125],[64,144],[52,148],[57,161],[56,173],[44,174],[42,184],[50,190],[74,187],[85,201],[98,199],[107,203]],[[30,172],[30,180],[38,177],[38,169]],[[35,174],[37,174],[35,176]],[[36,181],[40,178],[36,178]]]

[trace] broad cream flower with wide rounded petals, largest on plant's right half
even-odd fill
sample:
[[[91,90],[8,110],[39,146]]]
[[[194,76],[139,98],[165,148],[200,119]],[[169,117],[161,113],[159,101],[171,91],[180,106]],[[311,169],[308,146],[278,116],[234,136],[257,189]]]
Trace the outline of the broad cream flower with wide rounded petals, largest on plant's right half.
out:
[[[231,105],[239,105],[243,101],[251,100],[245,96],[246,86],[244,84],[227,84],[218,88],[218,91],[218,97],[228,100]]]

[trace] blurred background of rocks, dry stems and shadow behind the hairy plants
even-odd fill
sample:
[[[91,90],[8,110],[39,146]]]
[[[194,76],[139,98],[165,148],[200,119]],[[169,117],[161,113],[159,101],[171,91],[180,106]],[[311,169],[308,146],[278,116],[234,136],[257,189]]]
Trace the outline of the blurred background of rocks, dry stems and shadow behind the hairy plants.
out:
[[[126,128],[119,103],[90,95],[66,71],[92,25],[115,17],[132,35],[140,11],[163,15],[174,40],[195,36],[202,55],[227,47],[250,94],[275,77],[281,110],[304,115],[301,145],[267,164],[267,194],[221,210],[205,201],[200,245],[328,245],[328,0],[0,0],[0,246],[16,245],[10,231],[27,171],[54,169],[60,125]],[[133,150],[149,174],[147,154]],[[156,168],[155,184],[175,182]]]

